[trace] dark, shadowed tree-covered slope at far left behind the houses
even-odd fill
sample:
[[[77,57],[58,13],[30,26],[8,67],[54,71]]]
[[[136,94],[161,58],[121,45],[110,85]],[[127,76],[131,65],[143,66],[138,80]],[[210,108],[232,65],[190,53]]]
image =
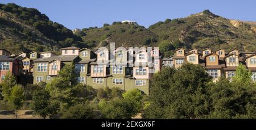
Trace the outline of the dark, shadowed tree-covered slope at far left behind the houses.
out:
[[[0,4],[0,47],[13,53],[57,51],[81,42],[81,37],[52,22],[36,9]]]

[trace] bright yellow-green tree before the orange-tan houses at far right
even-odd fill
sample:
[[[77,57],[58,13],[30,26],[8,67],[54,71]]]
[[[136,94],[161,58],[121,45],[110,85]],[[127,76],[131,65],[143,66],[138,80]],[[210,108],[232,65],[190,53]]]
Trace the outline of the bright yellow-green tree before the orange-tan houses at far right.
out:
[[[252,73],[250,72],[250,70],[247,70],[245,65],[240,64],[237,67],[236,75],[232,78],[232,80],[234,82],[251,83],[251,76]]]

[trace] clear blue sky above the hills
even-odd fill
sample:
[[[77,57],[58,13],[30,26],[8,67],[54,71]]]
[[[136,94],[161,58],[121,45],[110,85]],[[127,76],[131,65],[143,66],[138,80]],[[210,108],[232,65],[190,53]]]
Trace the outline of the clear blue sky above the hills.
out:
[[[229,19],[256,21],[254,0],[1,0],[0,3],[34,7],[70,29],[102,27],[104,23],[121,20],[134,20],[148,27],[205,9]]]

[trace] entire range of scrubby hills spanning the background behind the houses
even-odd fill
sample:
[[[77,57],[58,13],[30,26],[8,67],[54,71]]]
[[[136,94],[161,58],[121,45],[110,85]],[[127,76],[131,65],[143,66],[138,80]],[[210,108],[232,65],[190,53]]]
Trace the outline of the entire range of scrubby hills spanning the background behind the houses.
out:
[[[205,10],[186,18],[166,19],[148,28],[113,22],[73,34],[36,9],[14,3],[0,4],[0,48],[13,53],[57,52],[71,45],[96,49],[110,42],[115,42],[117,47],[159,47],[165,56],[170,56],[179,47],[227,51],[238,48],[255,52],[256,22],[226,19]]]

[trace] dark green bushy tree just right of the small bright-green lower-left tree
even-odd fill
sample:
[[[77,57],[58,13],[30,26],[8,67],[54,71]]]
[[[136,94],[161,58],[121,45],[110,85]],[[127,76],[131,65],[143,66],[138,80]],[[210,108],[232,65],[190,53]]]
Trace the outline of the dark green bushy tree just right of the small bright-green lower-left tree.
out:
[[[44,119],[46,116],[57,114],[57,104],[50,101],[50,95],[47,90],[36,90],[33,94],[32,110]]]

